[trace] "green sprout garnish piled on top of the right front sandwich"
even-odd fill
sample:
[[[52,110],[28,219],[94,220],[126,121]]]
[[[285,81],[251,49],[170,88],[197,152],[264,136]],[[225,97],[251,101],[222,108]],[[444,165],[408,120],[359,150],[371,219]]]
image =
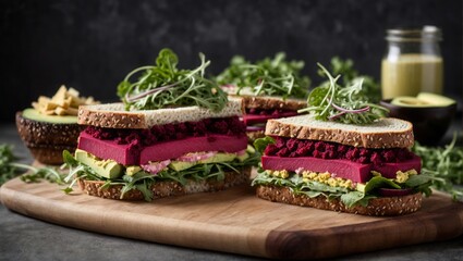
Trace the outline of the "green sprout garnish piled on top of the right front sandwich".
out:
[[[362,80],[351,86],[341,87],[336,78],[318,63],[328,76],[329,84],[313,89],[308,95],[309,107],[298,112],[310,112],[316,120],[337,121],[348,124],[369,124],[382,117],[388,109],[371,103],[362,92]]]

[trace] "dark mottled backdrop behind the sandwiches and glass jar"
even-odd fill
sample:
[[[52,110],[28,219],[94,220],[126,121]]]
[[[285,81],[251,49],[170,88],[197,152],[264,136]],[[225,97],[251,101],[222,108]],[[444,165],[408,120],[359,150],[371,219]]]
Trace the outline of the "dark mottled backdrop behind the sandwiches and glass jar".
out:
[[[233,54],[285,51],[315,83],[316,62],[340,55],[379,80],[385,32],[398,26],[442,28],[444,94],[461,99],[462,12],[460,0],[0,0],[0,121],[61,84],[115,101],[125,74],[163,47],[181,67],[204,52],[210,73]]]

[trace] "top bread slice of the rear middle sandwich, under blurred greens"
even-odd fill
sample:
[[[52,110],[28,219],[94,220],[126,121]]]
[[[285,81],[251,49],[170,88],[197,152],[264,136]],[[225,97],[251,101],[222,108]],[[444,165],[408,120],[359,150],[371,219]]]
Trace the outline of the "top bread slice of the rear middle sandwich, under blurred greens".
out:
[[[307,101],[298,99],[285,99],[271,96],[235,96],[229,95],[231,97],[241,98],[243,100],[243,107],[246,109],[281,109],[297,111],[300,109],[307,107]]]

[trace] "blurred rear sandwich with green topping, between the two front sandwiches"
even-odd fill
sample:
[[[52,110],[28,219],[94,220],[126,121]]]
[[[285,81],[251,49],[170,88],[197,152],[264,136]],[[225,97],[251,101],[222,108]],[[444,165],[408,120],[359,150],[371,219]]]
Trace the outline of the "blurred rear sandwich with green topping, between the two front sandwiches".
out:
[[[287,61],[283,52],[255,63],[236,55],[217,76],[229,96],[243,100],[243,122],[251,142],[264,137],[267,120],[294,116],[306,107],[310,80],[301,75],[303,67],[304,62]]]

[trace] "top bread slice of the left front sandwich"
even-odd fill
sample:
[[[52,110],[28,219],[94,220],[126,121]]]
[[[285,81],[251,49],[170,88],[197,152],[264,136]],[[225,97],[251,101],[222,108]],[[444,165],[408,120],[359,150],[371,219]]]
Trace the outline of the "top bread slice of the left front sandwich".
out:
[[[125,111],[123,103],[81,105],[77,123],[107,128],[150,128],[181,122],[197,122],[209,117],[229,117],[243,114],[240,99],[229,99],[220,112],[199,107],[181,107],[158,110]]]

